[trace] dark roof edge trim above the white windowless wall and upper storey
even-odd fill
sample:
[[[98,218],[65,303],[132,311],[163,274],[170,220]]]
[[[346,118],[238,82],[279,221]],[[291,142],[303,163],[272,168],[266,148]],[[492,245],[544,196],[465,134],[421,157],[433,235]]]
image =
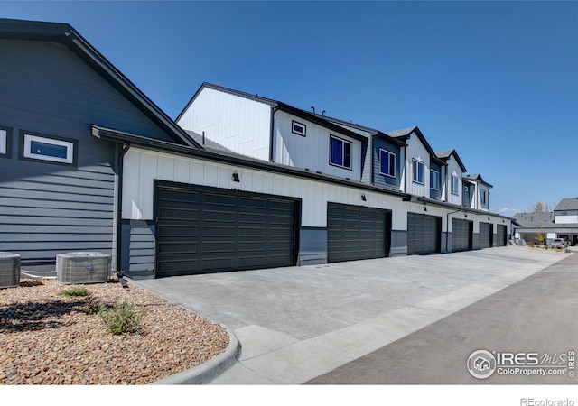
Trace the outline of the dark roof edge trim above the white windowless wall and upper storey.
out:
[[[191,107],[192,103],[195,101],[195,99],[197,97],[199,97],[200,93],[205,88],[210,88],[210,89],[217,90],[220,92],[228,93],[230,95],[234,95],[234,96],[238,96],[238,97],[245,97],[245,98],[248,98],[249,100],[253,100],[253,101],[256,101],[259,103],[264,103],[264,104],[270,106],[271,108],[275,108],[275,109],[284,111],[285,113],[289,113],[290,115],[295,115],[297,117],[303,118],[303,120],[307,120],[307,121],[314,123],[316,125],[321,125],[322,127],[328,128],[331,131],[339,132],[340,134],[347,135],[347,136],[349,136],[353,139],[359,140],[359,141],[366,141],[368,139],[368,137],[366,137],[362,134],[359,134],[358,132],[352,131],[348,128],[344,128],[343,126],[340,126],[340,125],[336,125],[335,123],[333,123],[331,120],[328,120],[323,115],[316,115],[314,113],[310,113],[310,112],[302,110],[300,108],[297,108],[294,106],[289,106],[286,103],[283,103],[279,100],[274,100],[272,98],[267,98],[267,97],[261,97],[258,95],[252,95],[252,94],[247,93],[247,92],[243,92],[240,90],[234,90],[232,88],[225,88],[225,87],[222,87],[219,85],[214,85],[214,84],[208,83],[208,82],[203,82],[200,85],[200,88],[197,89],[195,94],[191,97],[191,100],[189,100],[189,103],[187,103],[187,105],[182,109],[182,112],[177,116],[175,121],[178,122],[182,118],[182,115],[184,115],[185,112],[189,109],[189,107]]]

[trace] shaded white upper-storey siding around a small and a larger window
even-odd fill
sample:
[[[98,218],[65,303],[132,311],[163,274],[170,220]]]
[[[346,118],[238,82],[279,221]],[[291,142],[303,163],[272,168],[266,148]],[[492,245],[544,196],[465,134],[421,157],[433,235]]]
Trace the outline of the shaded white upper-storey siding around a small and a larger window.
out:
[[[292,123],[306,126],[305,136],[292,132]],[[361,180],[361,142],[347,135],[331,131],[322,125],[306,122],[302,118],[283,111],[275,112],[273,156],[276,163],[295,168]],[[351,143],[351,169],[330,163],[331,135]]]

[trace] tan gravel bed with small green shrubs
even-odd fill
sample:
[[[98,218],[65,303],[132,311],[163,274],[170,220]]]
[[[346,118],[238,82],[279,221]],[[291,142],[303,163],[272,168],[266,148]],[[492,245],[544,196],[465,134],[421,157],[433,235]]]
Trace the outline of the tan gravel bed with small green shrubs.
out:
[[[62,291],[86,288],[89,299]],[[139,327],[119,335],[95,306],[134,305]],[[205,363],[225,351],[225,328],[117,280],[64,285],[21,280],[0,290],[0,384],[138,385]]]

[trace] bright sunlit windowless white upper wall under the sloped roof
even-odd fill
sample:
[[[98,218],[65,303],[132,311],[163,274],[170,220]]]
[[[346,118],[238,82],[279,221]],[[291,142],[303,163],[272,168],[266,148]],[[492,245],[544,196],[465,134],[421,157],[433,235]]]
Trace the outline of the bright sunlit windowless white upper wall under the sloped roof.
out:
[[[271,106],[247,97],[203,88],[178,125],[230,151],[269,161]]]

